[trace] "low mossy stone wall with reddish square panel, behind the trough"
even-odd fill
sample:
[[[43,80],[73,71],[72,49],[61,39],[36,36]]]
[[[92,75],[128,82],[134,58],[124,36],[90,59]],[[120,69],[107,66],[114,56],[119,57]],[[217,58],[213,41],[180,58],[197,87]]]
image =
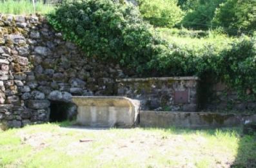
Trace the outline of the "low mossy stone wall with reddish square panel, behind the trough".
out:
[[[197,77],[118,79],[117,95],[141,101],[141,109],[197,111]]]

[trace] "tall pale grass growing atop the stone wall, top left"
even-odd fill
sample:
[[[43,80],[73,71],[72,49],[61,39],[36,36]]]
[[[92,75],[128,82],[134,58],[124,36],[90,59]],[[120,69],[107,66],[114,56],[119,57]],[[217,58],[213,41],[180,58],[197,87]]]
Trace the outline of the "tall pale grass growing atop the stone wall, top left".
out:
[[[54,10],[52,5],[43,5],[42,2],[35,3],[35,12],[39,14],[48,14]],[[34,6],[29,0],[7,0],[0,1],[0,13],[2,14],[34,14]]]

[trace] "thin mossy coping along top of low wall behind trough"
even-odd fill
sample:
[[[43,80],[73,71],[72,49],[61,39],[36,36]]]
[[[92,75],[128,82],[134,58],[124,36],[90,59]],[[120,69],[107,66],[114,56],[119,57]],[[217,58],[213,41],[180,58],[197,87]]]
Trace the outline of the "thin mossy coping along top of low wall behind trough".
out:
[[[116,82],[146,82],[150,80],[200,80],[199,77],[150,77],[116,79]]]

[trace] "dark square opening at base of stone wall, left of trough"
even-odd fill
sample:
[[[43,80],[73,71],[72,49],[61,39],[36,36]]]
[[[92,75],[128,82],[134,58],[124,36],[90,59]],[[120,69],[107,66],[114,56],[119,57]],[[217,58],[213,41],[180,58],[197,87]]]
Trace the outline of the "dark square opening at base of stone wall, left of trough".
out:
[[[76,113],[76,106],[70,102],[51,101],[50,122],[72,120]]]

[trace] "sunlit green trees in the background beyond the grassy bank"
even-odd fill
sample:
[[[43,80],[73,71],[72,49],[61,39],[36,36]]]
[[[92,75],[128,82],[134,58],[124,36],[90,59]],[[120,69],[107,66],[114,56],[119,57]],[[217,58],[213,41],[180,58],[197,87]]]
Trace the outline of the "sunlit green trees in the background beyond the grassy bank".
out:
[[[221,28],[230,35],[256,30],[255,0],[139,0],[139,10],[154,26]]]

